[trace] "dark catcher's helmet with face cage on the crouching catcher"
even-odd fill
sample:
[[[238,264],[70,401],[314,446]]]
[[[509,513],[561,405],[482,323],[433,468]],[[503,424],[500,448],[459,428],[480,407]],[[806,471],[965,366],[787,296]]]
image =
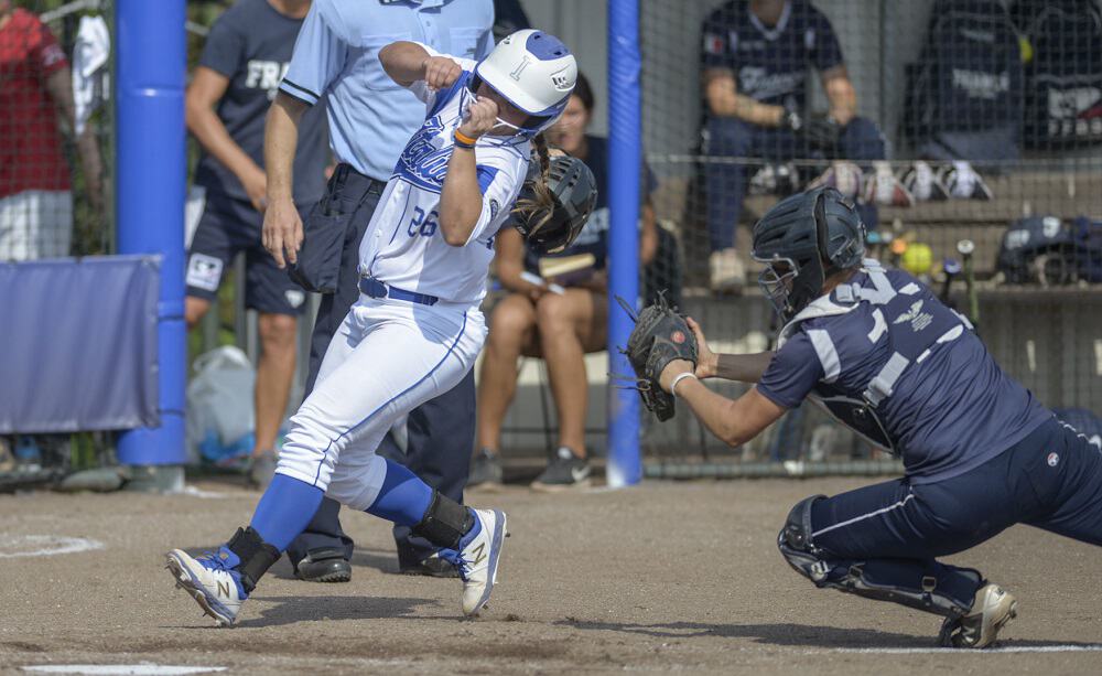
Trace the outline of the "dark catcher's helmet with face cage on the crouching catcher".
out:
[[[781,200],[754,224],[754,260],[766,264],[758,283],[789,321],[822,293],[827,277],[861,265],[865,224],[833,187]]]

